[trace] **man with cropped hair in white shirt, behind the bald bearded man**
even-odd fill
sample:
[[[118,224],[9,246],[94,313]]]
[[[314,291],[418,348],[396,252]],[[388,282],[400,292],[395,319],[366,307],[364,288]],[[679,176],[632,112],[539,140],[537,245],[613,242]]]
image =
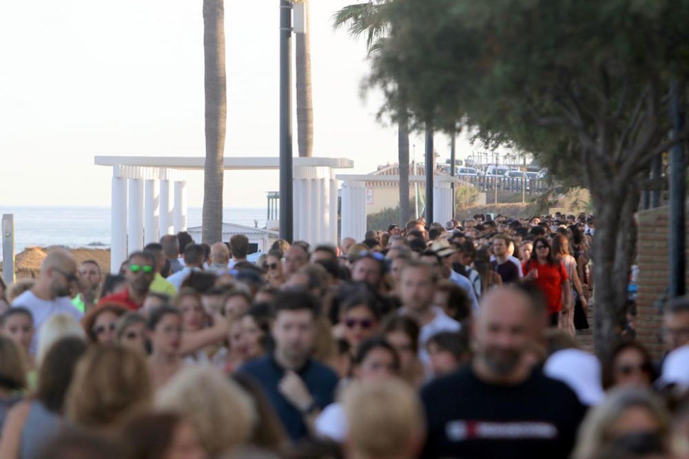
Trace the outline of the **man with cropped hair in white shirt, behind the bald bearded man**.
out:
[[[429,264],[411,260],[402,268],[400,277],[400,314],[407,315],[421,325],[419,333],[419,359],[428,369],[431,358],[426,351],[426,342],[438,332],[456,332],[459,322],[449,317],[442,308],[433,306],[433,293],[438,283],[438,275]]]

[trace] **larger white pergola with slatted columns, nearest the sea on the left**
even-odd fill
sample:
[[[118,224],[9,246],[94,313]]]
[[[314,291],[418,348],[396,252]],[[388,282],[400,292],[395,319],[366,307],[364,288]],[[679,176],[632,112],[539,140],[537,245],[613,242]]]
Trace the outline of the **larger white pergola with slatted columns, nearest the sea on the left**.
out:
[[[96,156],[112,167],[110,270],[127,254],[162,235],[187,229],[185,171],[203,171],[203,157]],[[225,158],[226,171],[278,169],[279,158]],[[338,242],[338,181],[335,169],[351,169],[345,158],[294,158],[294,238],[311,244]],[[364,232],[366,205],[364,191]],[[361,233],[363,235],[363,233]],[[362,236],[360,236],[362,237]]]

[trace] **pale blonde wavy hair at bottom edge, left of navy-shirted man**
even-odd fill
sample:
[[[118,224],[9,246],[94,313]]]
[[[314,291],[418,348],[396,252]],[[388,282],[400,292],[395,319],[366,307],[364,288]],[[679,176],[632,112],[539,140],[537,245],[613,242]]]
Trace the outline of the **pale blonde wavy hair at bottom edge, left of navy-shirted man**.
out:
[[[209,365],[178,372],[158,391],[156,407],[189,420],[210,456],[249,440],[258,419],[249,394]]]

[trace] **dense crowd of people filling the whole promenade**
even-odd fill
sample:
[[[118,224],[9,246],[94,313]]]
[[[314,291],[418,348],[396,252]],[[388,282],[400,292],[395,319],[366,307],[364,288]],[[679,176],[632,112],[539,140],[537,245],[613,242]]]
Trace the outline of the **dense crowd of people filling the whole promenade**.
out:
[[[599,361],[590,215],[165,235],[0,281],[0,459],[689,458],[689,299]],[[633,312],[633,308],[629,308]]]

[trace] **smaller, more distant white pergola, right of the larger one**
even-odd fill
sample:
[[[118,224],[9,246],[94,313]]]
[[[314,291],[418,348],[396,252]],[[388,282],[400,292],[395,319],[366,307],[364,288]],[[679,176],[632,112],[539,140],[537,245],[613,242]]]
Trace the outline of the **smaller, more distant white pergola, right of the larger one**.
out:
[[[340,236],[362,239],[366,233],[366,184],[367,182],[400,182],[399,175],[337,175],[342,180],[342,228]],[[409,175],[409,183],[425,183],[425,175]],[[454,218],[452,209],[452,184],[459,183],[450,175],[433,177],[433,222],[445,222]],[[430,222],[429,222],[430,223]]]

